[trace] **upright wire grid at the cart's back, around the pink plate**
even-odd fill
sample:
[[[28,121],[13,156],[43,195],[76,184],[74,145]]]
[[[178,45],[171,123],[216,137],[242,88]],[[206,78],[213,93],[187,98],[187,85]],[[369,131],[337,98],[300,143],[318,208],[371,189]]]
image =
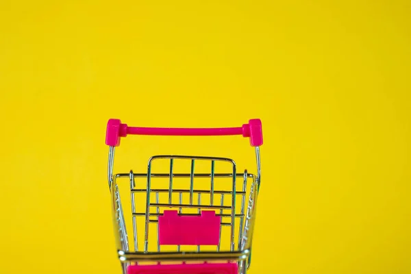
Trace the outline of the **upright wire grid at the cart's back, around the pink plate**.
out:
[[[169,163],[169,172],[152,172],[155,169],[154,163],[160,161],[162,161],[162,166],[164,166],[164,161]],[[189,166],[188,164],[186,166],[190,172],[175,172],[176,162],[189,162]],[[202,162],[202,166],[208,165],[209,172],[196,173],[197,162]],[[229,172],[217,173],[216,165],[220,163],[225,163],[225,170],[229,170]],[[222,217],[220,234],[223,227],[229,229],[227,233],[229,237],[222,239],[221,235],[219,245],[214,247],[214,250],[221,251],[223,242],[227,244],[224,246],[229,251],[240,249],[242,230],[246,221],[247,180],[253,179],[253,175],[248,174],[247,171],[236,173],[236,164],[233,160],[157,155],[150,158],[147,173],[130,171],[118,174],[116,177],[129,178],[134,251],[162,250],[158,240],[158,217],[162,215],[164,209],[170,208],[178,210],[180,215],[199,215],[201,210],[214,210],[216,216]],[[242,184],[237,184],[238,178]],[[153,182],[155,180],[158,182]],[[180,181],[178,182],[178,180]],[[139,219],[140,221],[138,221]],[[123,226],[120,225],[120,227]],[[144,232],[144,238],[140,236],[142,232]],[[155,234],[156,237],[153,238],[152,234]],[[140,242],[141,240],[142,242]],[[182,251],[182,247],[177,245],[173,250]],[[201,251],[202,247],[197,246],[196,250]]]

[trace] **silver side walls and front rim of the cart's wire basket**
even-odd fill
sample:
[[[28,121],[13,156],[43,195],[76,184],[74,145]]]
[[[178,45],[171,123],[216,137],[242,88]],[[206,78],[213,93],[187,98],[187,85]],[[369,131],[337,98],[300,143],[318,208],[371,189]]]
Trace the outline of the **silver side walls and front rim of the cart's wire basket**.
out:
[[[190,158],[189,156],[184,156],[184,158]],[[256,147],[256,159],[257,159],[257,171],[258,175],[251,175],[243,173],[238,174],[234,171],[232,173],[232,177],[236,177],[237,175],[242,175],[244,177],[251,177],[253,178],[253,183],[251,184],[251,192],[249,194],[249,204],[247,206],[247,214],[246,214],[246,221],[244,224],[244,228],[242,230],[242,238],[239,242],[238,251],[199,251],[197,252],[181,252],[179,248],[177,248],[177,252],[149,252],[149,251],[129,251],[128,249],[128,242],[126,245],[125,238],[127,238],[127,232],[125,231],[125,222],[123,218],[123,210],[121,208],[121,199],[119,197],[119,188],[116,184],[116,178],[123,177],[128,175],[130,177],[130,181],[134,181],[134,176],[143,176],[148,175],[145,173],[120,173],[117,175],[113,175],[113,164],[114,164],[114,147],[110,147],[109,149],[109,163],[108,163],[108,182],[110,192],[112,193],[112,216],[113,216],[113,223],[114,223],[114,230],[116,231],[115,240],[116,240],[116,247],[118,250],[119,259],[122,262],[123,266],[123,273],[126,273],[127,266],[131,262],[161,262],[161,261],[192,261],[192,260],[204,260],[204,261],[212,261],[212,260],[234,260],[239,262],[239,273],[245,274],[249,266],[251,265],[251,243],[252,243],[252,236],[253,236],[253,227],[255,225],[256,219],[256,204],[258,198],[258,192],[260,189],[260,177],[261,177],[261,163],[260,163],[260,150]],[[186,176],[186,174],[175,174]],[[190,177],[196,176],[228,176],[230,174],[207,174],[207,173],[199,173],[199,174],[192,174],[190,173]],[[169,176],[166,173],[151,173],[151,177],[162,177],[162,176]],[[190,191],[191,194],[197,192],[201,193],[201,190],[192,190]],[[244,192],[244,189],[243,191]],[[214,193],[213,193],[214,194]],[[158,192],[157,192],[158,195]],[[181,195],[179,193],[179,203],[181,204]],[[221,193],[221,198],[223,199],[224,193]],[[235,195],[234,195],[235,197]],[[245,195],[243,195],[245,197]],[[235,199],[235,198],[234,198]],[[149,203],[147,203],[149,204]],[[242,200],[242,205],[244,204],[244,198]],[[181,211],[181,209],[180,209]],[[157,213],[158,215],[158,213]],[[234,211],[235,216],[235,211]],[[241,229],[240,229],[241,230]],[[147,245],[147,244],[145,244]],[[136,248],[136,247],[135,247]],[[146,248],[146,247],[145,247]],[[136,248],[136,250],[138,250]],[[146,249],[147,250],[147,249]]]

